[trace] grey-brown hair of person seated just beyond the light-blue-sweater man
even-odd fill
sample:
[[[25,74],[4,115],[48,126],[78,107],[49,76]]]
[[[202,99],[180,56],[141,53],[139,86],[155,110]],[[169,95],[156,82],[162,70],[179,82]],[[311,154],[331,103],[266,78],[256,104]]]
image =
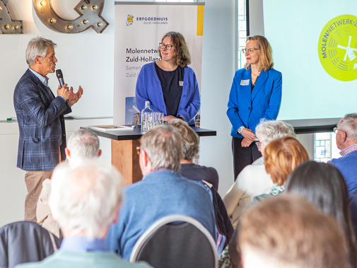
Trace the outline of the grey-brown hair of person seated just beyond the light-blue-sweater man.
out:
[[[181,134],[182,158],[191,161],[199,153],[199,136],[183,120],[174,119],[170,121],[170,124]]]

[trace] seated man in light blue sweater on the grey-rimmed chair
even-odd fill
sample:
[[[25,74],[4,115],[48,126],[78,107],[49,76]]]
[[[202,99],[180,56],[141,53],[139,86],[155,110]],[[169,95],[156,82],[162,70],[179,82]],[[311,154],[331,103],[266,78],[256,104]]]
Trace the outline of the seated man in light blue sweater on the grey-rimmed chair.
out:
[[[124,188],[125,202],[107,237],[111,250],[129,260],[136,240],[164,216],[183,214],[202,223],[216,240],[209,192],[201,182],[180,175],[182,139],[169,124],[141,136],[139,165],[143,180]]]

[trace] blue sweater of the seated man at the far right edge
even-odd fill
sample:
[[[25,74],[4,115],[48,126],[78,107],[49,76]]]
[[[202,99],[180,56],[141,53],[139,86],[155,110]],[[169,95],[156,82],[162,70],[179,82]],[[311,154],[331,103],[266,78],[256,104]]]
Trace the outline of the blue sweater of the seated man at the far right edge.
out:
[[[349,194],[357,190],[357,151],[341,158],[334,158],[329,163],[338,168],[344,175]]]

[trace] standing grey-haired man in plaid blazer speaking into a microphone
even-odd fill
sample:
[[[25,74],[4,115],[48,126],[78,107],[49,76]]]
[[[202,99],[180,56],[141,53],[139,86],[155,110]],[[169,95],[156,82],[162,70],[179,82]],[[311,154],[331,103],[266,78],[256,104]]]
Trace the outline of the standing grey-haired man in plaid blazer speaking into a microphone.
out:
[[[47,74],[54,73],[57,59],[56,44],[43,37],[35,37],[28,43],[26,62],[28,70],[18,81],[13,93],[20,137],[18,141],[17,167],[25,170],[28,194],[25,198],[25,221],[36,221],[36,204],[42,182],[51,177],[54,167],[64,161],[66,155],[66,130],[64,115],[71,112],[83,94],[79,86],[57,88],[54,97],[48,86]]]

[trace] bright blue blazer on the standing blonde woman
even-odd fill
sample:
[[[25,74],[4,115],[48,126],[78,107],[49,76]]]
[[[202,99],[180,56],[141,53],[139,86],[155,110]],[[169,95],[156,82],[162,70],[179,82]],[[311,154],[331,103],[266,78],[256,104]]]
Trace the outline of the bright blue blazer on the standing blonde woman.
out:
[[[281,72],[274,69],[261,71],[251,91],[250,70],[235,72],[230,88],[227,115],[232,124],[231,136],[243,138],[238,128],[247,127],[255,133],[262,118],[276,120],[281,105]]]

